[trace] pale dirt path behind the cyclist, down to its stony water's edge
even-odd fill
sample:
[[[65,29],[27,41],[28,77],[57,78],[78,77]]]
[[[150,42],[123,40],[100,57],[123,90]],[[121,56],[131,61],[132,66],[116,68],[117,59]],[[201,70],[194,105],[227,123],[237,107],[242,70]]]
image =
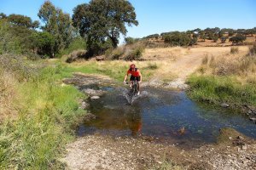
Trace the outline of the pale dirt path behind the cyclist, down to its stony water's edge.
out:
[[[239,48],[240,54],[246,54],[248,47],[241,46]],[[164,56],[156,55],[163,51]],[[195,72],[201,65],[202,59],[206,56],[214,56],[218,58],[221,55],[230,54],[230,47],[199,47],[199,48],[162,48],[162,49],[150,49],[146,55],[148,59],[153,59],[150,56],[157,56],[162,60],[160,74],[170,77],[174,75],[176,78],[171,82],[165,82],[161,80],[162,77],[153,77],[149,83],[145,83],[145,86],[162,87],[162,88],[181,88],[185,89],[188,86],[185,84],[186,78]],[[165,57],[169,56],[169,57]],[[164,77],[164,76],[163,76]]]

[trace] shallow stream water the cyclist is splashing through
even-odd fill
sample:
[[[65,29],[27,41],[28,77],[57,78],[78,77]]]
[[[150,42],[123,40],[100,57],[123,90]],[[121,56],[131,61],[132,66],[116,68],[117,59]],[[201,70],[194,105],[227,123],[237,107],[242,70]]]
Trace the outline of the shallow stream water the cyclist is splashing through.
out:
[[[233,127],[256,138],[256,125],[246,116],[195,103],[184,92],[143,88],[130,104],[125,88],[101,89],[108,93],[90,99],[90,112],[96,119],[79,127],[80,136],[102,133],[196,145],[215,142],[219,128]]]

